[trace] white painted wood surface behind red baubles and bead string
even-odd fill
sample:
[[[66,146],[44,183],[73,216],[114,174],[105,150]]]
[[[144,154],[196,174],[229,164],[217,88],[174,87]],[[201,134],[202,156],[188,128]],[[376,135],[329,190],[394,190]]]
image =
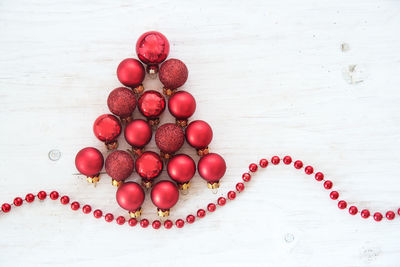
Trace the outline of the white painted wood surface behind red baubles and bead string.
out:
[[[158,30],[187,64],[194,118],[212,125],[211,149],[229,168],[218,195],[196,176],[172,218],[274,154],[324,171],[350,205],[397,210],[399,11],[378,0],[2,0],[0,202],[57,189],[124,214],[106,176],[93,188],[74,175],[74,157],[104,151],[92,123],[120,86],[116,67],[136,56],[141,33]],[[149,198],[144,208],[155,217]],[[312,177],[278,166],[182,230],[121,227],[52,201],[13,209],[0,215],[0,266],[400,266],[399,221],[352,217]]]

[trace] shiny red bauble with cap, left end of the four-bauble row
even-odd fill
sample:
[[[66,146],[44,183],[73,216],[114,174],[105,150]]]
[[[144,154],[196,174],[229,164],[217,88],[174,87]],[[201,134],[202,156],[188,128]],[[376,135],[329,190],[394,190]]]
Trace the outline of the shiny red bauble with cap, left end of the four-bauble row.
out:
[[[93,124],[94,135],[106,144],[108,150],[118,147],[117,138],[121,134],[121,123],[111,114],[99,116]]]

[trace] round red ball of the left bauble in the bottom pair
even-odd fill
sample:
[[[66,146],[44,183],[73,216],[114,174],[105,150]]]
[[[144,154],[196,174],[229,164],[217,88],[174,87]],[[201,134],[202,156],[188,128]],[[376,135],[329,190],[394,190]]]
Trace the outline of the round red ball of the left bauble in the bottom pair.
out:
[[[116,198],[121,208],[134,212],[143,204],[144,190],[138,183],[126,182],[118,187]]]

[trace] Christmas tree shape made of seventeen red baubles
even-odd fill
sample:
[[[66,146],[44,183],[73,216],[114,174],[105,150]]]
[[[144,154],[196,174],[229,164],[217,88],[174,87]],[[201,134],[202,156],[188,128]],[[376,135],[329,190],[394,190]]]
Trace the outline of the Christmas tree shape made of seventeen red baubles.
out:
[[[159,32],[140,36],[136,43],[139,60],[127,58],[118,65],[117,78],[123,87],[111,90],[107,98],[111,114],[99,116],[93,125],[96,138],[108,150],[105,160],[93,147],[82,149],[75,158],[76,168],[90,183],[100,181],[104,165],[111,184],[117,188],[117,203],[132,218],[141,215],[147,192],[157,214],[166,217],[178,202],[179,191],[188,192],[196,169],[214,191],[226,171],[225,160],[219,154],[209,153],[213,137],[210,125],[203,120],[189,123],[196,110],[196,100],[189,92],[179,90],[188,79],[188,68],[179,59],[167,59],[169,49],[168,39]],[[147,65],[146,69],[142,63]],[[163,84],[162,93],[145,90],[146,72],[153,77],[158,74]],[[133,117],[136,107],[144,119]],[[160,116],[166,110],[175,118],[175,123],[160,123]],[[122,132],[131,146],[128,152],[117,150]],[[146,150],[153,133],[158,152]],[[197,151],[200,157],[197,166],[192,157],[179,153],[185,142]],[[164,167],[166,175],[162,177]],[[130,181],[135,173],[141,184]],[[166,176],[170,180],[157,182],[159,177]]]

